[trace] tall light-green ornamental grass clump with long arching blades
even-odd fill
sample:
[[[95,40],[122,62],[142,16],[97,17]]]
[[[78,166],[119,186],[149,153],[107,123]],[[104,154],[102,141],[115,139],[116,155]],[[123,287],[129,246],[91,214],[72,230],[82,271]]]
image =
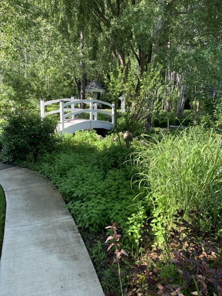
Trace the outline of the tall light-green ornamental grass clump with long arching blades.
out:
[[[156,235],[172,225],[176,209],[203,207],[206,229],[222,219],[222,138],[213,130],[192,127],[146,137],[133,154],[144,204]],[[185,214],[186,215],[186,214]]]

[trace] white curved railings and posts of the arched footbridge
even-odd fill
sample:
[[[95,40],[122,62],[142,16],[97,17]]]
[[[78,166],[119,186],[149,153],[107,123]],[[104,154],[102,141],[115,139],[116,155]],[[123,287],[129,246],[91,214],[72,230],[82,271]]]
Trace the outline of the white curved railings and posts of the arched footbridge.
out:
[[[58,110],[45,112],[45,106],[50,105],[50,104],[55,104],[55,103],[60,104]],[[75,104],[79,104],[79,103],[88,104],[89,109],[75,108]],[[111,107],[112,112],[110,113],[108,111],[97,109],[98,104],[103,104],[103,105]],[[67,108],[68,106],[71,106],[71,108]],[[62,125],[62,131],[64,131],[65,118],[71,116],[72,119],[75,119],[75,115],[80,114],[80,113],[89,113],[89,120],[90,121],[98,120],[97,119],[98,113],[107,114],[107,115],[111,116],[111,124],[114,125],[114,103],[110,104],[110,103],[100,101],[100,100],[93,100],[92,97],[90,97],[89,100],[87,100],[87,99],[78,100],[78,99],[74,99],[73,96],[71,97],[71,99],[51,100],[51,101],[47,101],[47,102],[44,102],[44,100],[40,100],[40,111],[41,111],[41,117],[44,117],[46,114],[60,113],[60,123]],[[67,111],[71,111],[71,112],[67,113]]]

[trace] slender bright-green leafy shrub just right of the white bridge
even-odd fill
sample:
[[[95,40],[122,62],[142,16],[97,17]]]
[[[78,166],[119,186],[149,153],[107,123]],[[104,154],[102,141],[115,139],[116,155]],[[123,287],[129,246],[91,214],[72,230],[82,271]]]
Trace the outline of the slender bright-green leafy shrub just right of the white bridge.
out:
[[[129,148],[133,137],[142,133],[144,124],[152,113],[154,91],[160,86],[159,71],[161,67],[149,66],[143,74],[134,67],[125,73],[122,67],[109,74],[108,89],[115,100],[116,132],[127,132],[126,147]],[[126,112],[119,120],[117,112],[118,97],[125,98]],[[123,119],[124,118],[124,119]]]

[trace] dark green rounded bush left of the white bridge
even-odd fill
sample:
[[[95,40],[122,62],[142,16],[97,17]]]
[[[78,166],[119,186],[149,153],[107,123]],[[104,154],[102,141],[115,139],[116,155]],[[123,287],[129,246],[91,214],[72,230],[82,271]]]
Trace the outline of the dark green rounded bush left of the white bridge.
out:
[[[11,114],[2,124],[1,142],[3,161],[32,160],[38,153],[50,151],[55,143],[57,120],[52,116],[22,111]]]

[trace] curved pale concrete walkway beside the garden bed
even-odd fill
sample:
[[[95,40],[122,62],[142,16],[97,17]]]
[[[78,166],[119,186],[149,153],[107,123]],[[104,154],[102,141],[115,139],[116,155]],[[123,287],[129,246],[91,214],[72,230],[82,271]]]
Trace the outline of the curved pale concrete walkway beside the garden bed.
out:
[[[104,296],[62,196],[38,173],[0,164],[6,196],[0,296]]]

